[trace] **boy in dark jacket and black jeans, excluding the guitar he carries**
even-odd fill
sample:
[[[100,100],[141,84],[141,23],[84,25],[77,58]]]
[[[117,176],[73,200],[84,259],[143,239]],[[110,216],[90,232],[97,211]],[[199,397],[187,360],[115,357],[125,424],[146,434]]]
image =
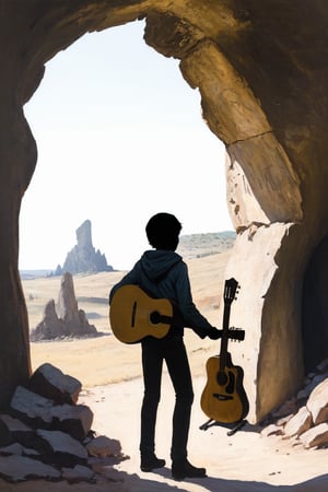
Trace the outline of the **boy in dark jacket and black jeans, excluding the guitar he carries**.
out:
[[[180,231],[181,224],[169,213],[157,213],[149,220],[145,233],[154,249],[144,251],[132,270],[114,285],[109,303],[121,285],[139,285],[153,297],[174,302],[185,326],[190,326],[200,338],[209,337],[214,340],[220,337],[220,331],[195,306],[187,265],[175,253]],[[204,468],[197,468],[187,459],[194,389],[184,343],[184,328],[172,326],[164,338],[147,337],[141,345],[144,395],[141,407],[140,468],[142,471],[152,471],[165,466],[165,460],[155,455],[156,412],[165,361],[176,395],[171,445],[172,476],[175,480],[206,477]]]

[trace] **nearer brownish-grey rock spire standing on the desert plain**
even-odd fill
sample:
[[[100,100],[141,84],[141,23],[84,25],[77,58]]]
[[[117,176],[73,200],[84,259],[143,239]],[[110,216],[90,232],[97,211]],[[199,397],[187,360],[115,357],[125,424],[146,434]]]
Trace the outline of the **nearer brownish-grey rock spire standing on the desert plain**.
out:
[[[57,312],[55,301],[50,300],[42,321],[31,330],[31,340],[54,340],[67,337],[95,337],[97,329],[90,325],[85,312],[79,309],[74,292],[73,278],[66,272],[62,276],[58,295]]]

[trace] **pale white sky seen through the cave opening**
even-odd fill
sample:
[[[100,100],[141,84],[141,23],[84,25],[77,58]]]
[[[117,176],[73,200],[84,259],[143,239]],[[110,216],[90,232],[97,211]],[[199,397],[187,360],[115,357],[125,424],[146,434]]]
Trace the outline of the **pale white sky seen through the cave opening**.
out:
[[[174,213],[181,234],[233,230],[224,147],[178,60],[150,48],[143,26],[83,36],[47,63],[25,105],[38,160],[22,202],[20,269],[62,266],[86,219],[115,269],[149,248],[156,212]]]

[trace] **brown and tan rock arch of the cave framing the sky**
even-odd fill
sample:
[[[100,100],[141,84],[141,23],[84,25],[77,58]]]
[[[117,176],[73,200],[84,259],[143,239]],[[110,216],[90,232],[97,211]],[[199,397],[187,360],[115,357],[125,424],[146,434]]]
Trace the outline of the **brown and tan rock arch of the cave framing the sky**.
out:
[[[241,283],[232,324],[246,330],[233,360],[245,371],[249,420],[260,420],[300,387],[304,359],[319,362],[317,347],[327,347],[326,288],[316,282],[325,268],[309,262],[320,244],[319,267],[327,263],[328,248],[325,2],[1,0],[1,405],[30,374],[17,224],[36,145],[22,106],[58,51],[89,31],[145,16],[147,43],[181,60],[210,130],[226,144],[238,232],[226,278]]]

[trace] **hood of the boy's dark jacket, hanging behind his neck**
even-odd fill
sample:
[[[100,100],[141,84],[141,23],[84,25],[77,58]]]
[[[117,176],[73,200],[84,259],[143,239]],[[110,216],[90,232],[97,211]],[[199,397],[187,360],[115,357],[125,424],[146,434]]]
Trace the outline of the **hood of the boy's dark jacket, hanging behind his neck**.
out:
[[[180,255],[175,251],[154,249],[145,251],[140,261],[143,272],[150,280],[157,280],[176,263],[181,261]]]

